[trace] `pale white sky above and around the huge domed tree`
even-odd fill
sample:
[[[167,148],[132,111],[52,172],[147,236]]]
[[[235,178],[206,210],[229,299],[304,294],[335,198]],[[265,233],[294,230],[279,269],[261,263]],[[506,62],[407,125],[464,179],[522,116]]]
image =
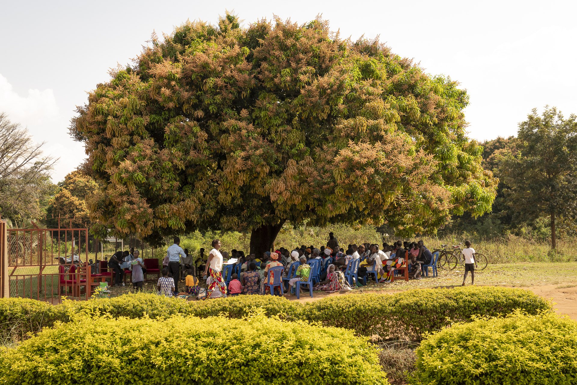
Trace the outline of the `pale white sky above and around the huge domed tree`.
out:
[[[380,35],[428,73],[460,81],[471,98],[470,136],[516,133],[533,107],[577,113],[577,1],[8,1],[0,2],[0,111],[60,158],[53,180],[84,159],[68,134],[75,106],[130,62],[153,30],[187,18],[216,23],[225,10],[250,23],[317,14],[343,37]]]

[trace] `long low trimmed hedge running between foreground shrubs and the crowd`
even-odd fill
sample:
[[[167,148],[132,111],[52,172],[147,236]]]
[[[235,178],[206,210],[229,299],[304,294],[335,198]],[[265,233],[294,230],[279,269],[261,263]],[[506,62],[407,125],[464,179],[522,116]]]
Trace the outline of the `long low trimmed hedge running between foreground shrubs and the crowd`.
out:
[[[43,313],[48,311],[45,305],[41,307]],[[48,311],[51,312],[50,316],[46,317],[46,322],[41,326],[49,327],[55,320],[68,322],[71,315],[84,312],[89,315],[108,313],[112,317],[129,318],[145,315],[161,318],[177,314],[198,317],[223,314],[230,318],[240,318],[254,308],[263,308],[267,315],[282,319],[321,322],[325,326],[354,330],[368,337],[418,342],[425,332],[440,330],[454,322],[469,321],[473,315],[496,317],[515,309],[536,314],[550,310],[550,304],[527,290],[469,286],[415,289],[392,295],[346,294],[305,304],[274,296],[237,296],[186,302],[138,293],[91,301],[65,301],[52,308]],[[2,314],[3,311],[8,311],[8,308],[0,306],[0,320],[7,316]],[[36,332],[38,327],[26,331]]]

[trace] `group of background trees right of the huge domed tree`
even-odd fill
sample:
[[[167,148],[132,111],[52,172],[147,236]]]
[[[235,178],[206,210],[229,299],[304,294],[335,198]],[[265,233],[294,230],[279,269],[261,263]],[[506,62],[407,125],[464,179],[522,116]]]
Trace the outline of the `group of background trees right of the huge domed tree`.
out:
[[[517,136],[482,145],[483,167],[499,178],[493,210],[477,219],[453,216],[442,233],[481,238],[515,234],[547,242],[576,234],[577,123],[554,107],[531,111]]]

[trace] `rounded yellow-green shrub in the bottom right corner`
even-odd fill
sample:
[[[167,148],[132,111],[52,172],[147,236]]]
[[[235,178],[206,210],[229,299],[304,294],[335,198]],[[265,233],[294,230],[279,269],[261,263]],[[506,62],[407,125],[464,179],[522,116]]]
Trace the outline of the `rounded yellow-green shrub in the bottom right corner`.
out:
[[[577,323],[554,313],[479,319],[426,338],[415,384],[577,383]]]

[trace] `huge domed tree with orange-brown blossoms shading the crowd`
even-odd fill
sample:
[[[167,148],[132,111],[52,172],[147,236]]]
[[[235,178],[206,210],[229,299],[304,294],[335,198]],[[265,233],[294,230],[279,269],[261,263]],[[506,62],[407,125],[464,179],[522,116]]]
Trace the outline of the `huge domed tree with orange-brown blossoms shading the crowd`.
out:
[[[286,220],[434,233],[490,211],[497,183],[466,136],[466,91],[376,39],[227,14],[150,43],[70,127],[104,186],[97,232],[252,231],[260,251]]]

